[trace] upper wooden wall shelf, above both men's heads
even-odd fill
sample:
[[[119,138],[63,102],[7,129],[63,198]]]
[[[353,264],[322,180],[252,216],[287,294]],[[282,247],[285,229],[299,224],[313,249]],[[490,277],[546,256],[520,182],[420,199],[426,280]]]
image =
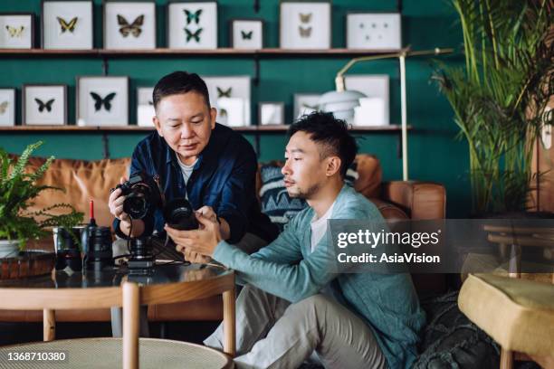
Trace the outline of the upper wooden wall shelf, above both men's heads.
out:
[[[402,52],[407,49],[390,50],[349,50],[349,49],[279,49],[267,48],[259,50],[240,50],[231,48],[219,48],[209,50],[188,50],[188,49],[133,49],[133,50],[44,50],[44,49],[0,49],[2,56],[96,56],[96,57],[137,57],[137,56],[260,56],[260,57],[305,57],[305,56],[345,56],[354,57],[359,55],[382,55],[386,53]]]

